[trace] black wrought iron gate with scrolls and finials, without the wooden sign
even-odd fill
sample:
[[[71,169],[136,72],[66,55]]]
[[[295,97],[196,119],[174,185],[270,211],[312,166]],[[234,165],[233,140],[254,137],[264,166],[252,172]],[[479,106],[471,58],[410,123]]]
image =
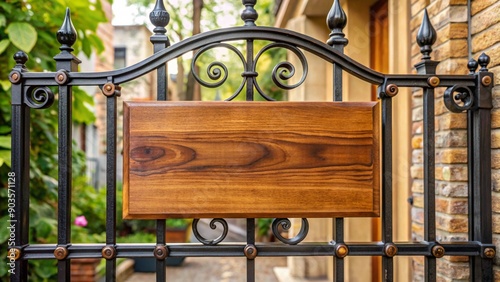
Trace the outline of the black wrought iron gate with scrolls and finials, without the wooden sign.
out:
[[[183,42],[170,46],[166,35],[169,14],[162,1],[157,1],[150,19],[155,26],[151,42],[155,54],[144,61],[115,71],[102,73],[77,72],[79,60],[71,53],[76,40],[69,11],[57,34],[61,43],[60,54],[55,57],[57,72],[31,73],[25,68],[28,57],[18,52],[14,59],[16,66],[10,73],[12,83],[12,172],[17,177],[15,183],[15,219],[19,223],[15,230],[15,246],[9,252],[15,254],[15,267],[18,270],[11,276],[11,281],[27,281],[28,260],[58,260],[59,281],[70,280],[70,260],[75,258],[105,258],[106,280],[114,281],[116,259],[129,257],[156,257],[157,281],[165,281],[165,258],[170,257],[246,257],[247,280],[255,280],[255,261],[259,257],[273,256],[330,256],[334,258],[335,280],[344,281],[344,258],[346,256],[382,257],[384,281],[393,281],[393,259],[395,256],[423,256],[425,275],[428,281],[436,281],[436,260],[444,255],[468,256],[470,258],[471,281],[493,281],[493,258],[495,247],[492,244],[492,207],[491,207],[491,134],[490,124],[492,108],[491,91],[493,75],[488,72],[489,57],[481,55],[477,61],[468,64],[469,75],[436,74],[438,62],[431,60],[432,45],[436,32],[427,15],[417,36],[421,47],[422,61],[416,65],[418,74],[391,75],[382,74],[350,59],[343,54],[348,41],[344,38],[343,28],[347,19],[335,1],[328,14],[327,24],[331,30],[327,44],[292,31],[256,26],[258,18],[254,9],[256,0],[243,0],[245,6],[241,18],[242,27],[214,30],[193,36]],[[227,42],[242,40],[246,44],[245,53]],[[333,218],[334,238],[330,242],[298,243],[307,235],[307,219],[303,219],[301,232],[294,239],[278,236],[282,243],[265,244],[255,242],[255,220],[247,219],[247,241],[245,243],[218,244],[199,238],[202,244],[175,244],[165,242],[165,220],[157,220],[156,244],[117,244],[116,243],[116,157],[117,157],[117,103],[120,96],[120,84],[131,81],[145,73],[157,71],[157,99],[167,100],[167,74],[165,63],[182,54],[198,50],[204,52],[214,46],[229,48],[240,57],[244,64],[243,80],[238,91],[228,100],[244,95],[247,101],[253,101],[260,95],[272,100],[259,87],[255,69],[260,53],[254,54],[254,40],[271,41],[266,48],[285,48],[295,53],[304,67],[304,75],[297,84],[280,82],[289,79],[287,70],[294,72],[294,66],[281,63],[273,70],[273,81],[278,87],[292,89],[306,79],[307,60],[303,51],[310,52],[332,64],[335,101],[342,101],[342,74],[348,72],[361,80],[378,85],[381,104],[381,218],[382,241],[370,244],[355,244],[344,241],[344,219]],[[219,86],[227,73],[225,66],[215,63],[209,74],[211,79],[220,83],[210,84],[197,80],[205,86]],[[479,71],[477,71],[477,69]],[[221,79],[222,77],[222,79]],[[71,159],[72,159],[72,87],[99,86],[107,100],[107,211],[106,242],[84,245],[72,244],[70,240],[71,213]],[[243,91],[246,85],[246,90]],[[30,150],[30,111],[51,107],[55,101],[49,87],[58,87],[59,93],[59,189],[58,189],[58,242],[57,245],[30,245],[29,230],[29,150]],[[395,243],[393,240],[392,212],[392,99],[400,87],[423,89],[424,105],[424,191],[425,191],[425,241]],[[445,87],[444,101],[452,112],[468,113],[468,171],[469,171],[469,241],[457,244],[440,243],[436,240],[435,225],[435,136],[434,136],[434,91]],[[227,224],[223,219],[227,233]],[[193,228],[197,228],[197,220]],[[287,219],[276,219],[273,229],[278,225],[287,226]]]

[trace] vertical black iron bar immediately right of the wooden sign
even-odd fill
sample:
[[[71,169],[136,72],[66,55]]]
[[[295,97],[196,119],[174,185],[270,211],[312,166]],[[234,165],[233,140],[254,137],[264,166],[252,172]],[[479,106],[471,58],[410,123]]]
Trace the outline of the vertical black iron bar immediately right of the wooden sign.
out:
[[[392,98],[382,98],[382,240],[392,243]],[[394,280],[393,258],[382,257],[382,281]]]

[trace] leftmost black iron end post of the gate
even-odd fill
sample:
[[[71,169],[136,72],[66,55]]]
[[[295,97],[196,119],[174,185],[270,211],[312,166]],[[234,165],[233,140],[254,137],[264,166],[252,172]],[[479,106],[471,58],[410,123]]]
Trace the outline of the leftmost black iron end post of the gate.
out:
[[[19,69],[21,71],[21,69]],[[23,84],[12,85],[12,172],[15,182],[15,217],[11,224],[16,226],[15,245],[29,244],[29,171],[30,171],[30,109],[24,104]],[[10,177],[10,176],[9,176]],[[28,261],[15,262],[10,281],[28,281]]]

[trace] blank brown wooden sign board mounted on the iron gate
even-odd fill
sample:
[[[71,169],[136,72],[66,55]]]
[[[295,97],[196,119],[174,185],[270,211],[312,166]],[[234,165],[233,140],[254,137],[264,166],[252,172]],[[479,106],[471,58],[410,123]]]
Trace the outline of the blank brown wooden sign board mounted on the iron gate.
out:
[[[379,215],[379,107],[127,102],[127,219]]]

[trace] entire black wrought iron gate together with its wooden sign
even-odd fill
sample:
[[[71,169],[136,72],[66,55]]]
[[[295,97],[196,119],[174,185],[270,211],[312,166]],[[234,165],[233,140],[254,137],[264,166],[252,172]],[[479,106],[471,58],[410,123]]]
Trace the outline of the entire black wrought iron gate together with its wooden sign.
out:
[[[343,33],[347,17],[334,1],[326,19],[331,30],[326,43],[290,30],[257,26],[256,0],[243,0],[244,26],[213,30],[171,45],[167,37],[169,14],[157,1],[150,19],[154,28],[154,55],[123,69],[78,72],[80,61],[72,54],[76,32],[69,10],[57,33],[61,52],[55,72],[28,72],[28,57],[16,53],[12,83],[12,172],[15,183],[15,255],[18,270],[11,281],[28,280],[28,261],[58,260],[59,281],[69,281],[70,260],[105,258],[106,281],[116,279],[117,258],[156,258],[157,281],[165,281],[167,257],[244,257],[247,281],[255,280],[255,261],[273,256],[330,256],[335,280],[344,280],[347,256],[380,256],[384,281],[392,281],[396,256],[425,258],[426,276],[436,280],[436,260],[468,256],[471,280],[493,281],[491,219],[491,91],[493,74],[489,57],[481,55],[468,64],[468,75],[436,74],[431,59],[436,31],[427,12],[417,35],[422,60],[417,74],[383,74],[344,55],[348,44]],[[269,42],[254,50],[254,42]],[[240,42],[234,44],[234,42]],[[242,47],[243,46],[243,47]],[[242,47],[242,48],[240,48]],[[246,102],[170,102],[166,63],[195,51],[193,65],[204,52],[224,48],[242,64],[241,82],[227,100]],[[259,85],[257,64],[264,52],[286,49],[300,62],[281,62],[271,72],[273,83],[294,89],[314,75],[304,52],[331,63],[332,102],[255,102],[273,98]],[[301,69],[298,72],[296,68]],[[478,70],[478,68],[480,68]],[[117,244],[117,104],[120,85],[146,73],[157,72],[156,102],[127,102],[124,113],[124,216],[156,219],[156,243]],[[228,79],[227,66],[213,62],[207,74],[193,73],[204,87],[216,88]],[[347,72],[378,86],[377,103],[340,103],[342,76]],[[301,73],[301,75],[297,75]],[[300,77],[295,77],[300,76]],[[208,78],[208,79],[207,79]],[[208,81],[207,81],[208,80]],[[98,86],[106,97],[106,240],[100,244],[73,244],[71,238],[72,87]],[[425,240],[396,243],[393,240],[392,100],[401,87],[423,89]],[[446,88],[444,103],[452,112],[468,112],[469,241],[440,243],[436,239],[434,91]],[[52,89],[58,89],[59,179],[57,245],[30,245],[29,144],[30,111],[54,107]],[[240,97],[240,98],[241,98]],[[249,102],[252,101],[252,102]],[[395,164],[397,165],[397,164]],[[344,219],[380,216],[382,240],[365,244],[344,240]],[[192,217],[199,243],[171,244],[165,240],[165,218]],[[221,236],[204,238],[199,218],[215,218]],[[247,221],[246,242],[221,244],[228,232],[223,218]],[[279,243],[257,243],[255,218],[275,217],[272,223]],[[280,228],[290,228],[289,217],[302,218],[296,237],[285,238]],[[329,242],[304,243],[307,217],[329,217],[334,237]],[[201,243],[201,244],[200,244]]]

